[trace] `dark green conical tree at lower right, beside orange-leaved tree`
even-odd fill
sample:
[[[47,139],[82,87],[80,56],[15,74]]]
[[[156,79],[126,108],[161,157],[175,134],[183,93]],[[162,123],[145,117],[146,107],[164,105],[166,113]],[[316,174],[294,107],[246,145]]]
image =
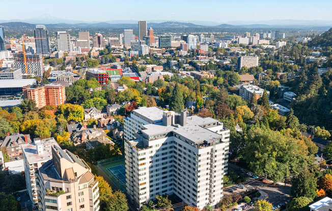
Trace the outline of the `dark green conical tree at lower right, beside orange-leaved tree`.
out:
[[[291,196],[307,197],[314,199],[316,197],[317,179],[308,169],[301,171],[292,181]]]

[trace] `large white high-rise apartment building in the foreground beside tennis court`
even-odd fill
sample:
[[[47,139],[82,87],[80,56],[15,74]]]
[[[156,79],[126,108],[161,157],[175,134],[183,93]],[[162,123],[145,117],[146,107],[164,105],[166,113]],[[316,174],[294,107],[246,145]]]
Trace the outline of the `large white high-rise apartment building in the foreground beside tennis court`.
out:
[[[137,207],[162,194],[199,208],[223,197],[230,130],[222,122],[156,107],[124,121],[126,190]]]

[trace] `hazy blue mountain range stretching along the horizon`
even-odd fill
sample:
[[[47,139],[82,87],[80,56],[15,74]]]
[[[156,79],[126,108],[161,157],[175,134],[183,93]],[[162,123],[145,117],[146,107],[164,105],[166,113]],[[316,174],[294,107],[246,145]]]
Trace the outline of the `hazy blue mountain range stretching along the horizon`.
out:
[[[3,22],[0,21],[0,25],[7,26],[8,29],[34,29],[36,24],[26,23],[26,22]],[[114,28],[114,29],[122,29],[122,28],[137,28],[137,23],[107,23],[107,22],[99,22],[99,23],[51,23],[44,24],[47,28]],[[155,23],[148,23],[148,28],[310,28],[317,27],[317,25],[269,25],[269,24],[245,24],[245,25],[232,25],[232,24],[219,24],[214,26],[207,25],[197,25],[193,23],[185,23],[178,21],[166,21]],[[332,26],[332,24],[331,24]],[[321,26],[327,27],[327,26]],[[329,27],[329,26],[328,26]]]

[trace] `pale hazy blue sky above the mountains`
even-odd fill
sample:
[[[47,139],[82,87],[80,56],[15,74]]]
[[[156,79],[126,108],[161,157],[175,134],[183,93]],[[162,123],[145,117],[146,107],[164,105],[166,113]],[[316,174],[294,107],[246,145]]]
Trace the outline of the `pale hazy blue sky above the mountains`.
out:
[[[0,20],[332,20],[331,0],[0,0]]]

